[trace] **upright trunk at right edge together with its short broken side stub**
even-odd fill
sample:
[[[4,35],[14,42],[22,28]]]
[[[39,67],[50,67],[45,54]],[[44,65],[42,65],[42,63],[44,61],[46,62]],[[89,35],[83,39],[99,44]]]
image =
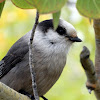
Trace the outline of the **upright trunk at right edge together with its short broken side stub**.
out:
[[[89,59],[90,52],[86,47],[80,54],[80,61],[87,76],[87,88],[90,92],[94,90],[97,100],[100,100],[100,19],[94,19],[93,22],[96,42],[95,67]]]

